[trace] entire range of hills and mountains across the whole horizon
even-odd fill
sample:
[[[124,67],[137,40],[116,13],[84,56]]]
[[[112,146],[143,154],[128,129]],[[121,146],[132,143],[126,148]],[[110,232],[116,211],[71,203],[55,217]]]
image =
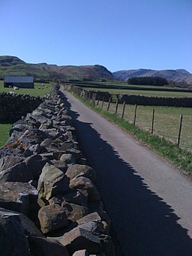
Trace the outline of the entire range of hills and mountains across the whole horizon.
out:
[[[134,69],[110,72],[102,65],[48,65],[30,64],[15,56],[0,56],[0,79],[6,75],[26,75],[35,79],[84,79],[84,80],[127,80],[130,77],[163,77],[175,83],[192,85],[192,74],[184,69],[155,71]]]

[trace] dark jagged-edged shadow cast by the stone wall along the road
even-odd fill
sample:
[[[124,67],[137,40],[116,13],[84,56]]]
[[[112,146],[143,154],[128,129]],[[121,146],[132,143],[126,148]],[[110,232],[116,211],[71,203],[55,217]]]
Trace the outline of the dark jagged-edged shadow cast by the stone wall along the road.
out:
[[[124,256],[192,255],[192,240],[177,223],[173,209],[154,194],[129,163],[118,156],[107,141],[80,122],[79,114],[65,104],[74,119],[77,138],[84,155],[95,168],[98,188]],[[128,152],[127,152],[128,154]]]

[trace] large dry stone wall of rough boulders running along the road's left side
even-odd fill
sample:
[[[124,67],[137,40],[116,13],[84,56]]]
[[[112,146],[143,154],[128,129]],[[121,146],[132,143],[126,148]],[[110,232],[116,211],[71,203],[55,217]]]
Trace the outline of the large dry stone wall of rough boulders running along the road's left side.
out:
[[[115,255],[95,180],[55,86],[0,149],[0,255]]]

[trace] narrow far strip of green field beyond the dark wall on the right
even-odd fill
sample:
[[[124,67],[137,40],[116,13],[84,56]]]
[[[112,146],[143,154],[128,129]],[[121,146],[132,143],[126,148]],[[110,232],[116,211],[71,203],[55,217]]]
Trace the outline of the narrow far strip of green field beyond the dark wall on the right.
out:
[[[144,88],[144,86],[143,86]],[[150,86],[145,88],[150,88]],[[151,87],[154,88],[154,87]],[[85,88],[87,89],[87,88]],[[192,92],[166,92],[166,91],[152,91],[152,90],[133,90],[133,89],[105,89],[105,88],[89,88],[89,90],[93,91],[101,91],[101,92],[110,92],[112,94],[129,94],[129,95],[143,95],[143,96],[151,96],[151,97],[192,97]]]

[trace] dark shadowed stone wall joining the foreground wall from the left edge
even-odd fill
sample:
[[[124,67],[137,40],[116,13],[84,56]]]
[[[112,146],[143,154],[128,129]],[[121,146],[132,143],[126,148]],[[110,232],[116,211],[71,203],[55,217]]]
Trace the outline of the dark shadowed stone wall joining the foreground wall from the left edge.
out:
[[[0,122],[16,122],[35,110],[43,98],[16,93],[0,93]]]

